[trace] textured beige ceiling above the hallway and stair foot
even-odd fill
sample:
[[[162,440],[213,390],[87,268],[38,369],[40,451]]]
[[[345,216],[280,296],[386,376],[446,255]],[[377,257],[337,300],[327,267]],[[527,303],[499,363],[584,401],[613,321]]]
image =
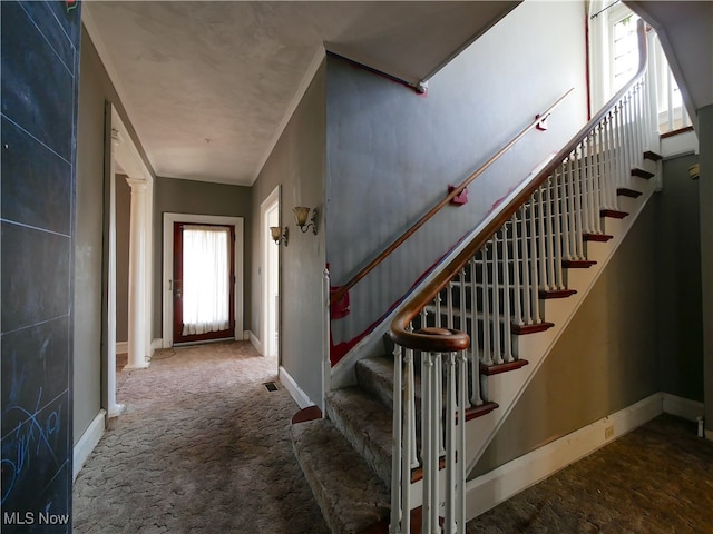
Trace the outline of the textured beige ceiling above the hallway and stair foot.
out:
[[[158,176],[252,185],[324,50],[414,83],[518,1],[87,1]]]

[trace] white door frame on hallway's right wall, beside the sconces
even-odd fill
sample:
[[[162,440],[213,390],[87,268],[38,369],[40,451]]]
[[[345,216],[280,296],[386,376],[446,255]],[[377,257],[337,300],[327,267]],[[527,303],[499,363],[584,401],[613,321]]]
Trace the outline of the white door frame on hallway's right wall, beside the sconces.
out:
[[[263,236],[262,238],[262,256],[263,256],[263,269],[262,269],[262,296],[263,296],[263,306],[262,306],[262,320],[261,320],[261,346],[260,346],[260,353],[263,356],[266,356],[267,353],[270,352],[270,346],[271,346],[271,342],[268,340],[268,337],[271,335],[274,335],[274,333],[270,333],[268,330],[268,326],[270,326],[270,320],[268,320],[268,315],[273,314],[273,317],[279,316],[280,314],[280,306],[277,305],[277,309],[272,309],[272,305],[270,304],[270,284],[268,284],[268,277],[272,274],[272,270],[274,268],[274,270],[276,270],[277,273],[277,295],[281,294],[281,276],[280,276],[280,251],[281,251],[281,247],[277,249],[277,259],[276,263],[277,265],[271,265],[270,261],[270,254],[268,251],[271,250],[268,247],[274,247],[275,244],[272,240],[272,238],[270,237],[270,225],[267,224],[267,214],[270,211],[272,211],[273,209],[277,210],[277,226],[282,226],[282,217],[281,217],[281,211],[280,211],[280,186],[275,187],[273,189],[273,191],[267,196],[267,198],[265,198],[265,200],[263,200],[263,202],[260,205],[260,221],[261,221],[261,230],[260,230],[260,235]],[[279,330],[280,329],[280,320],[276,319],[276,324],[275,324],[275,328]],[[275,348],[275,355],[277,356],[277,360],[280,362],[280,343],[276,344]]]

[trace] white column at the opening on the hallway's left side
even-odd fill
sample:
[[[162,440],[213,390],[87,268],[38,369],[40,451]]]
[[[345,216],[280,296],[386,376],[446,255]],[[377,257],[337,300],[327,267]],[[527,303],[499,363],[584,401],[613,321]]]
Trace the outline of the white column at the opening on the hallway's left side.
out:
[[[129,228],[129,354],[125,370],[148,367],[146,352],[146,180],[127,178],[131,188]]]

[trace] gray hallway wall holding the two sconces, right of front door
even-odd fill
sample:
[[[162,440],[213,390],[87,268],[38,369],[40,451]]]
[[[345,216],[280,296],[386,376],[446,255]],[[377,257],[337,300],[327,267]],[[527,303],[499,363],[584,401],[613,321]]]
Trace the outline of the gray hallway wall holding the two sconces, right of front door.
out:
[[[280,247],[281,268],[281,364],[300,387],[319,403],[322,395],[322,271],[324,269],[325,226],[320,224],[318,236],[302,234],[294,225],[294,206],[318,207],[324,202],[325,139],[325,77],[323,65],[280,141],[265,162],[253,186],[253,308],[252,330],[262,335],[262,246],[265,236],[260,231],[260,205],[282,186],[281,222],[290,227],[290,244]],[[268,246],[275,246],[267,243]]]

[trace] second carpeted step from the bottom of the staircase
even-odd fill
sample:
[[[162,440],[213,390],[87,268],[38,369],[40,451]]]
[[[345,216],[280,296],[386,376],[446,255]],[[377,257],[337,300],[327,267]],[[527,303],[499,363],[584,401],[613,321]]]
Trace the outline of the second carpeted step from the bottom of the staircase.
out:
[[[326,413],[354,451],[391,484],[392,411],[359,386],[326,395]]]

